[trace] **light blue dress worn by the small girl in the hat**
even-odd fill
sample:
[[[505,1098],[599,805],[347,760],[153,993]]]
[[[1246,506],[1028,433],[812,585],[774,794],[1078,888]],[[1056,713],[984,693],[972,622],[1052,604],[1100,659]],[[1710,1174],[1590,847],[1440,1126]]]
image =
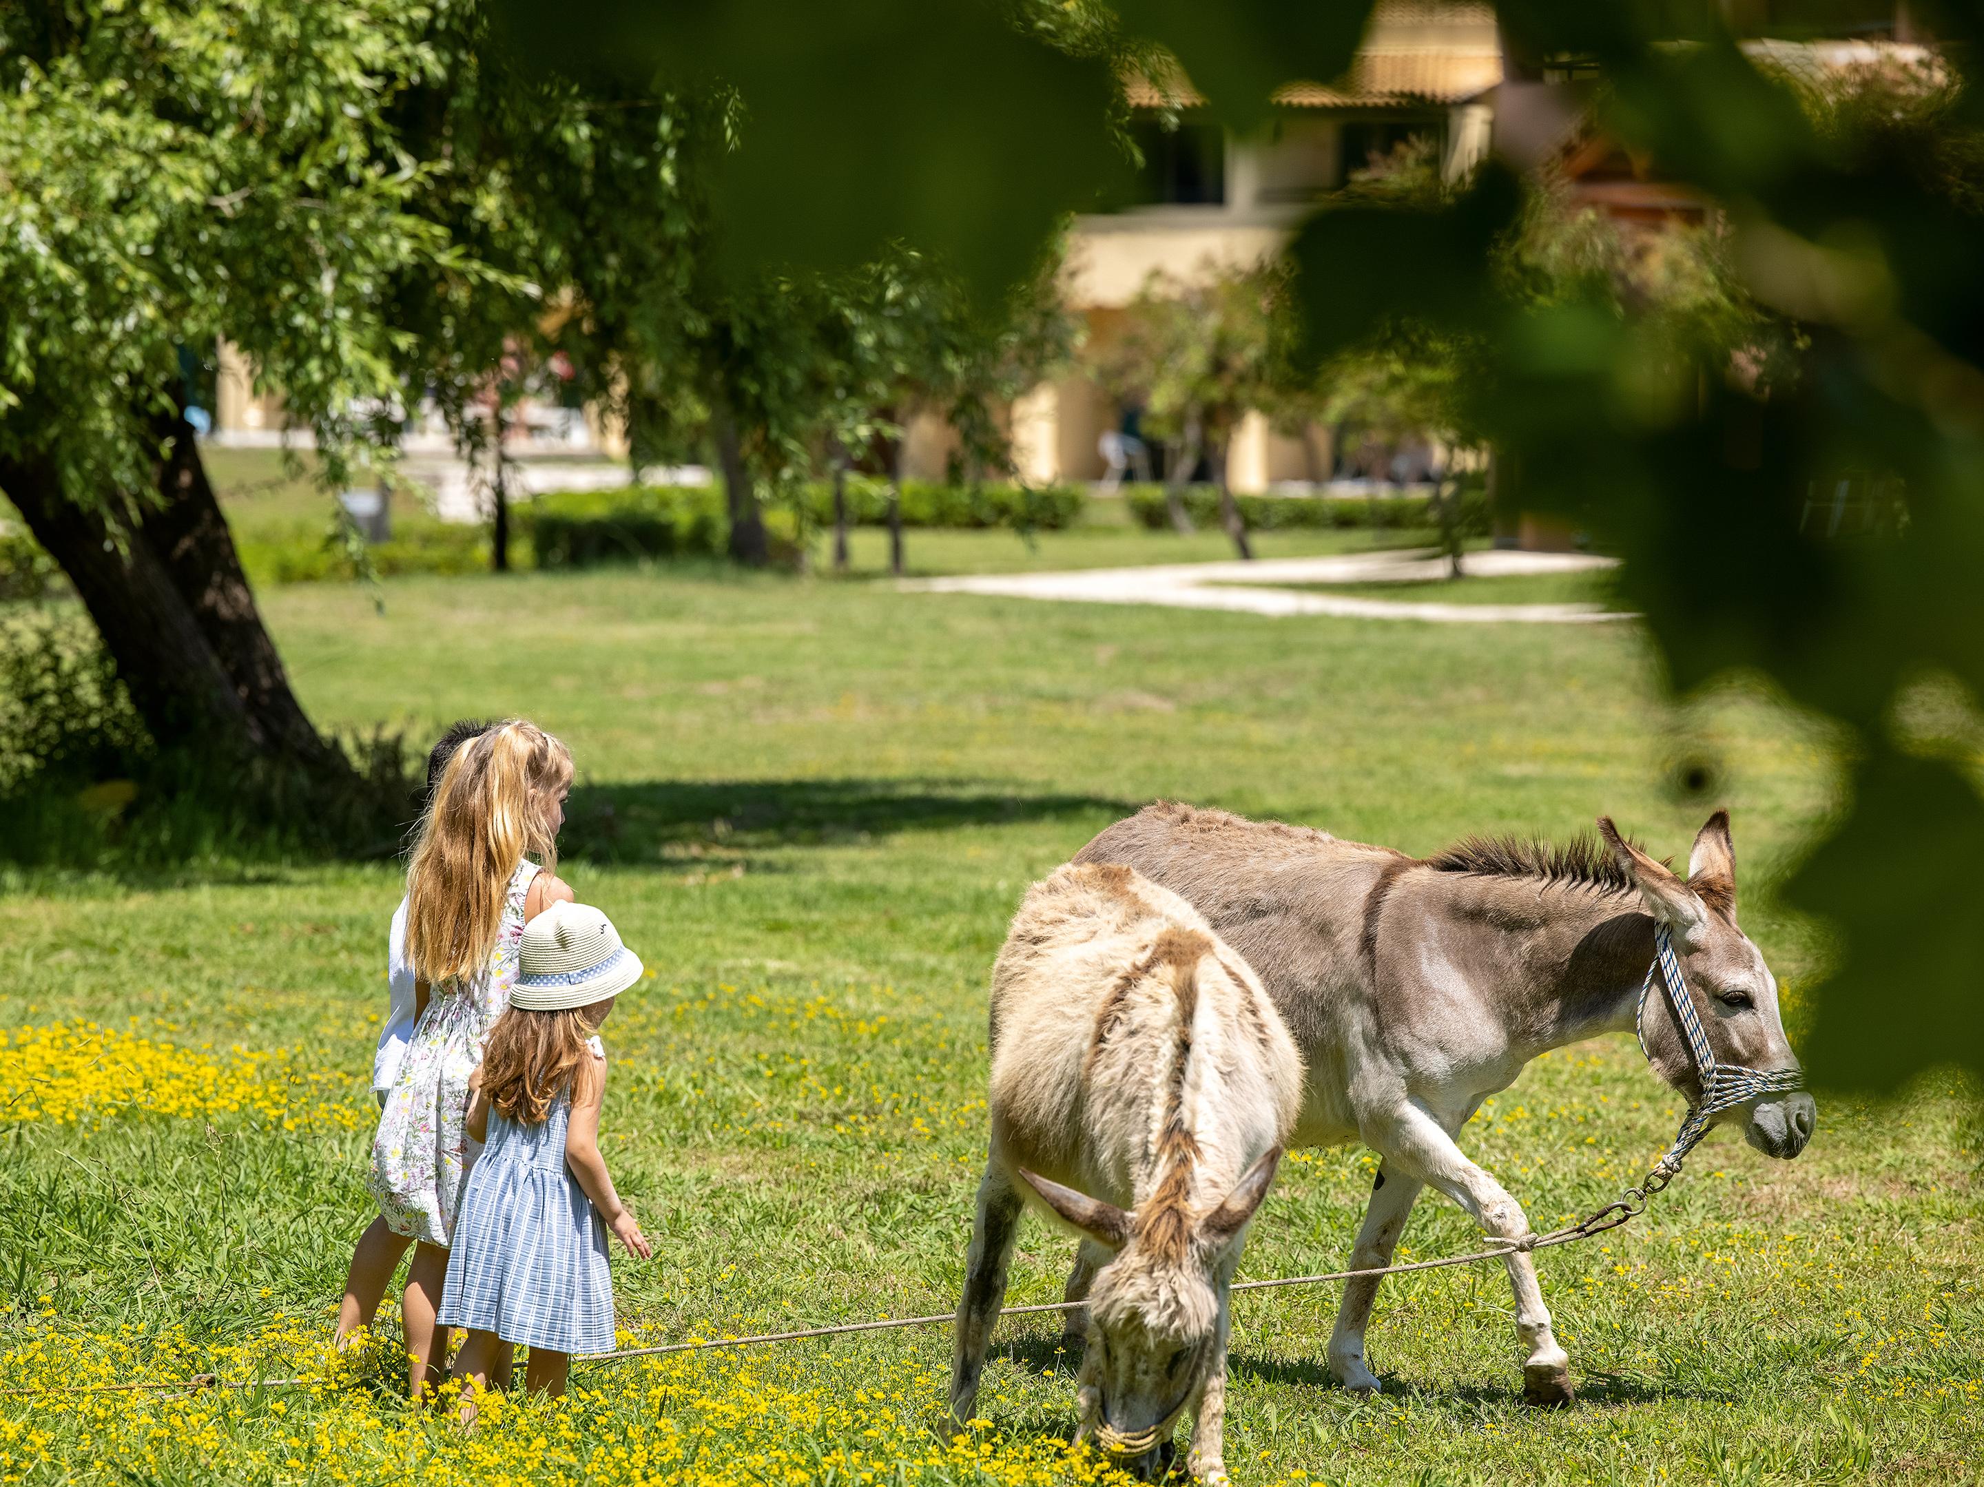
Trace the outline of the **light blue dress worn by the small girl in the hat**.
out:
[[[454,1219],[442,1326],[552,1352],[613,1350],[607,1223],[565,1168],[569,1120],[569,1094],[538,1126],[490,1110]]]

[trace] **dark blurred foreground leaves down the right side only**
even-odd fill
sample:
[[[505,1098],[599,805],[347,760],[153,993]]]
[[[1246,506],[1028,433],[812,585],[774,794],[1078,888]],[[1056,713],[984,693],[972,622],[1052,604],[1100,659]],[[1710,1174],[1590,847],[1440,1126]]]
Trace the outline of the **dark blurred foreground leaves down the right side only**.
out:
[[[1944,825],[1974,785],[1922,783],[1948,763],[1895,785],[1881,740],[1924,666],[1984,694],[1984,442],[1948,393],[1984,367],[1976,282],[1954,268],[1984,256],[1974,93],[1897,101],[1875,77],[1815,99],[1726,36],[1657,44],[1635,6],[1538,4],[1518,34],[1591,54],[1599,125],[1724,202],[1722,228],[1653,238],[1649,258],[1621,252],[1645,238],[1579,238],[1573,222],[1551,256],[1498,167],[1430,212],[1327,212],[1296,244],[1311,347],[1395,319],[1478,347],[1468,414],[1520,472],[1522,506],[1627,559],[1623,599],[1678,688],[1756,668],[1859,736],[1835,841],[1917,843],[1887,853],[1891,870],[1934,900],[1968,872]],[[1327,291],[1345,282],[1363,293]],[[1811,506],[1841,482],[1899,482],[1905,533],[1829,539]],[[1946,985],[1952,966],[1934,936],[1895,934],[1885,892],[1845,890],[1839,864],[1873,872],[1879,857],[1827,847],[1792,884],[1855,968],[1823,993],[1813,1071],[1833,1085],[1895,1088],[1944,1059],[1978,1065],[1984,1047],[1974,997],[1930,1027],[1877,995]]]

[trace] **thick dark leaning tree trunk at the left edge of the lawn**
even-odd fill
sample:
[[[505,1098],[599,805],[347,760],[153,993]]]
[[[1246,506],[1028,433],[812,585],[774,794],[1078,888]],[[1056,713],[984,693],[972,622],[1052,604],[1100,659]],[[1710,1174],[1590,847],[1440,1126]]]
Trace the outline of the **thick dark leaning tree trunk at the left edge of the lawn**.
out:
[[[192,428],[165,428],[161,504],[75,506],[46,464],[0,462],[0,488],[69,577],[161,749],[278,757],[349,779],[290,690]]]

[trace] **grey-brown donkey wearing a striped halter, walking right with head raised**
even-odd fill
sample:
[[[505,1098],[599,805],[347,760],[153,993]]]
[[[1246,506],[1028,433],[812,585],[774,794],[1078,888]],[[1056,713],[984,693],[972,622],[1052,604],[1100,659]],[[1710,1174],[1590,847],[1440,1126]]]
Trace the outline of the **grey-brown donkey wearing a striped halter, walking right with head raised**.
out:
[[[1530,1223],[1454,1136],[1480,1102],[1546,1049],[1631,1033],[1657,928],[1678,954],[1706,1047],[1720,1065],[1796,1073],[1778,1017],[1778,981],[1736,926],[1728,815],[1694,839],[1680,878],[1623,841],[1569,847],[1470,839],[1428,858],[1337,841],[1321,831],[1159,803],[1103,831],[1077,862],[1119,862],[1186,898],[1252,966],[1302,1049],[1307,1083],[1296,1146],[1361,1140],[1381,1162],[1353,1269],[1391,1263],[1425,1184],[1498,1239]],[[1639,1035],[1653,1069],[1690,1104],[1700,1079],[1669,1003],[1647,997]],[[1776,1083],[1790,1083],[1776,1081]],[[1798,1156],[1811,1138],[1809,1094],[1768,1092],[1722,1110],[1752,1146]],[[1569,1404],[1569,1358],[1530,1255],[1508,1255],[1516,1330],[1528,1350],[1524,1398]],[[1069,1297],[1087,1285],[1087,1253]],[[1351,1281],[1329,1338],[1329,1370],[1375,1392],[1365,1324],[1377,1277]]]

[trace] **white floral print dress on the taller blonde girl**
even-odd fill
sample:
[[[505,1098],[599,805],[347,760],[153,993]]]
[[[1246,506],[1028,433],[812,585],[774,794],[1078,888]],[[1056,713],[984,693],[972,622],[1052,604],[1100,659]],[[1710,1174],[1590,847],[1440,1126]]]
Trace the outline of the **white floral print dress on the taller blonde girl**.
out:
[[[482,1041],[510,1005],[524,898],[536,876],[536,862],[518,862],[490,964],[474,979],[433,987],[385,1096],[373,1136],[371,1192],[393,1233],[446,1247],[454,1229],[468,1158],[468,1081],[482,1063]]]

